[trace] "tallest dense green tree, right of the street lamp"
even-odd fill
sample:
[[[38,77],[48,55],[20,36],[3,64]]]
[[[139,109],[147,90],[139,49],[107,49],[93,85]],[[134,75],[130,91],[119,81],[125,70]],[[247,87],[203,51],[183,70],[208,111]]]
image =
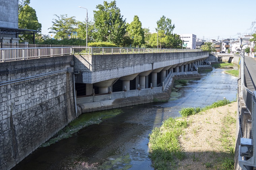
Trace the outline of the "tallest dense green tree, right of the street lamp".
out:
[[[96,6],[98,11],[94,12],[94,39],[99,42],[111,42],[119,45],[126,33],[126,19],[120,14],[116,1]]]

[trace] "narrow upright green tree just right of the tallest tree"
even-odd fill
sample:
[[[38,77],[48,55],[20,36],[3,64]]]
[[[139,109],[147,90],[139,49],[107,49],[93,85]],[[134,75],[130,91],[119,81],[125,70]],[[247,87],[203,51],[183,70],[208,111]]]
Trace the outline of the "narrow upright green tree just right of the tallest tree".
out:
[[[139,17],[137,15],[134,16],[131,24],[127,24],[126,31],[129,33],[130,38],[133,40],[133,47],[141,47],[141,45],[145,43],[144,31],[141,26],[142,24],[139,21]]]

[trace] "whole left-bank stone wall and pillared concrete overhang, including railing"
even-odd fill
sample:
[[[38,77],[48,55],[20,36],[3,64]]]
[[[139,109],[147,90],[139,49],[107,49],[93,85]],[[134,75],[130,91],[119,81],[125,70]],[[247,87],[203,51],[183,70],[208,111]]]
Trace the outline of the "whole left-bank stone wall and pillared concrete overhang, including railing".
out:
[[[197,76],[208,56],[191,49],[1,48],[0,169],[11,169],[82,111],[94,111],[86,108],[92,103],[100,110],[167,99],[174,80]]]

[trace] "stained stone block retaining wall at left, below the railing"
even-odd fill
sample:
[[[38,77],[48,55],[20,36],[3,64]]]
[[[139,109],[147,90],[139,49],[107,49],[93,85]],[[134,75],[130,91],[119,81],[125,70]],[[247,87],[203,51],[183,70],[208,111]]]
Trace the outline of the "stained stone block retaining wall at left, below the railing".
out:
[[[0,169],[8,170],[77,117],[73,56],[0,62]],[[32,78],[31,76],[42,76]],[[25,81],[23,81],[26,78]],[[3,84],[17,80],[15,83]]]

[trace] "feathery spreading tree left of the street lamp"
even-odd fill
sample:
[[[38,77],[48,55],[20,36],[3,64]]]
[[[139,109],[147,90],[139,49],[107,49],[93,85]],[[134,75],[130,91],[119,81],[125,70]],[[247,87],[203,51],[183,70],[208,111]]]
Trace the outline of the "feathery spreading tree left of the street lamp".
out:
[[[76,29],[75,27],[77,22],[75,16],[68,17],[67,14],[60,16],[56,14],[54,15],[57,17],[57,19],[53,19],[53,26],[49,28],[52,31],[49,33],[56,34],[55,38],[68,38],[68,35],[70,35]]]

